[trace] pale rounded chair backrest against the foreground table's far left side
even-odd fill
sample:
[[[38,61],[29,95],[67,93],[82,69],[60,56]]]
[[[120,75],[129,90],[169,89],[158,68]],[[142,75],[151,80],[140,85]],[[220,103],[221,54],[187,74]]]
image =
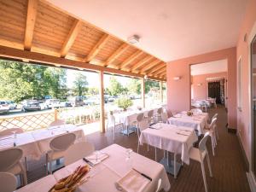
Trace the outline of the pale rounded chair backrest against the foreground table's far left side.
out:
[[[91,143],[88,142],[79,142],[74,143],[64,153],[64,164],[68,166],[77,160],[83,159],[85,156],[88,156],[94,152],[95,148]]]

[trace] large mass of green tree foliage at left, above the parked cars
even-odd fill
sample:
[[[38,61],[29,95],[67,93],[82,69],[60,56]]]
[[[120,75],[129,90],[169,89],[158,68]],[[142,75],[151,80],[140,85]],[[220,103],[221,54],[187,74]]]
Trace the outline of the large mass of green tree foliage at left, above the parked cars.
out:
[[[65,96],[64,69],[0,60],[0,98],[20,102],[24,99]]]

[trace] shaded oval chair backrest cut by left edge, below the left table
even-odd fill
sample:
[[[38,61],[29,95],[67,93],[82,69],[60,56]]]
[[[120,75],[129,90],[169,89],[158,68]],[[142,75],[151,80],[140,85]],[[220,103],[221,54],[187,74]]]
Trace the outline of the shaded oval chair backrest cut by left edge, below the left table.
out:
[[[9,148],[0,151],[0,172],[8,172],[12,166],[19,163],[22,155],[23,151],[20,148]]]

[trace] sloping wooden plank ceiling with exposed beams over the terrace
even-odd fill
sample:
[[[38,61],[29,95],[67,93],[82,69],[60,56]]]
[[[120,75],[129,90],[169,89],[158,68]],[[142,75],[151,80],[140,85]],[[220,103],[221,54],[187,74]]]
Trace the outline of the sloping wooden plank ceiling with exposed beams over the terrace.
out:
[[[2,47],[64,58],[84,68],[166,81],[164,61],[45,1],[0,0],[0,28]]]

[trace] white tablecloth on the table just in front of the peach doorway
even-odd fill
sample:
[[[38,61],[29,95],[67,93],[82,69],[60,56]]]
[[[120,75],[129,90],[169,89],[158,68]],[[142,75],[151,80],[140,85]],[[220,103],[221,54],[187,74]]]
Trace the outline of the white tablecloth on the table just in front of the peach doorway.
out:
[[[188,116],[185,113],[180,113],[179,115],[179,117],[169,118],[168,123],[171,125],[191,127],[197,130],[199,135],[203,133],[203,129],[206,127],[207,120],[209,119],[208,113],[202,113],[196,116]]]

